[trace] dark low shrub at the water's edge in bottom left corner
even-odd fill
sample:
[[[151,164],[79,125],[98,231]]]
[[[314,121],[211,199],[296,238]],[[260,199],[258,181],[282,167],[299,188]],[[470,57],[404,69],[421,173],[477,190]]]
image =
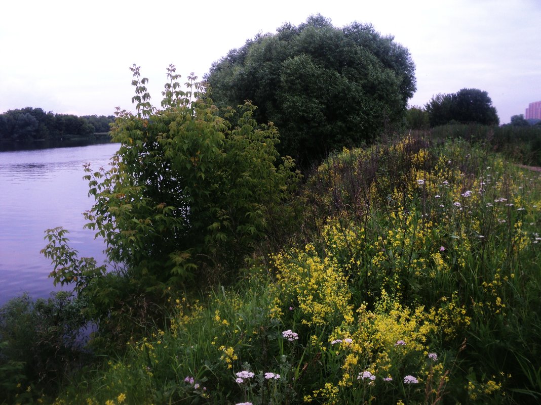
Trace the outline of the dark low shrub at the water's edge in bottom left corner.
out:
[[[0,308],[0,401],[52,394],[81,364],[84,305],[70,293],[14,298]],[[25,402],[25,403],[27,403]]]

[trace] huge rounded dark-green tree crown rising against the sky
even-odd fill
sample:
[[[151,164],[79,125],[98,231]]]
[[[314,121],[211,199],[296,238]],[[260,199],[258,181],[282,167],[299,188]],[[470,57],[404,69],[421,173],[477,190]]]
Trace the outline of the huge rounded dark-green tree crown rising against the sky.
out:
[[[403,122],[415,91],[410,53],[370,24],[335,28],[309,17],[257,35],[215,62],[206,80],[217,106],[258,106],[280,130],[282,154],[302,165]]]

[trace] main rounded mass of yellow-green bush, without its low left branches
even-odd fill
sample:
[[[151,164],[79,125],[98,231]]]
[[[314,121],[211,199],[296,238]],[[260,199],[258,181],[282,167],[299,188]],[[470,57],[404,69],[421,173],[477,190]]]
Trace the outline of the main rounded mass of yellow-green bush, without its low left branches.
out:
[[[252,251],[294,186],[293,165],[275,165],[278,131],[258,127],[251,104],[240,107],[231,128],[200,98],[195,78],[187,92],[177,90],[170,68],[164,109],[156,110],[138,74],[134,69],[139,112],[117,118],[111,135],[121,147],[111,168],[87,167],[96,198],[89,226],[107,241],[109,259],[142,285],[187,285],[204,268],[226,271]]]

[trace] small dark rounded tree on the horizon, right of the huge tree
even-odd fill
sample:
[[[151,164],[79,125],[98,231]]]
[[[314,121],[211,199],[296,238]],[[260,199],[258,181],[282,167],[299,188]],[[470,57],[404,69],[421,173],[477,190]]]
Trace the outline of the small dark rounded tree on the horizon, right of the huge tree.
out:
[[[496,108],[489,93],[478,89],[462,89],[458,93],[439,94],[426,104],[430,125],[478,123],[498,125]]]

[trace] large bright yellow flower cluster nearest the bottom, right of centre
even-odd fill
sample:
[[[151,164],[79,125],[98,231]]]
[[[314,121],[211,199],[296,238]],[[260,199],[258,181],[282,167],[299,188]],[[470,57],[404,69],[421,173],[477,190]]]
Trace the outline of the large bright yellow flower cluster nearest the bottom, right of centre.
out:
[[[425,312],[422,306],[405,308],[385,291],[374,311],[362,305],[357,313],[358,322],[337,327],[329,336],[333,345],[330,354],[340,361],[340,380],[315,389],[305,397],[306,402],[322,398],[324,403],[341,403],[356,389],[358,375],[364,372],[381,380],[393,370],[415,364],[421,366],[411,372],[419,381],[423,376],[434,381],[443,378],[443,365],[427,366],[425,361],[430,352],[427,340],[438,330],[433,313]],[[412,358],[417,360],[412,362]]]

